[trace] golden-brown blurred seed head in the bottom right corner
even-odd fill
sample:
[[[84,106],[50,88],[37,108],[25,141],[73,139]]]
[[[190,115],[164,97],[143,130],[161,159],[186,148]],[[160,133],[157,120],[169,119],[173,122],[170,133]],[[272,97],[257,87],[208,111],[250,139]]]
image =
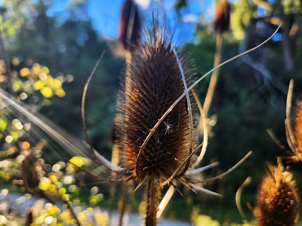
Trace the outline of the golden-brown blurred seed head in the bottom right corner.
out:
[[[300,215],[300,199],[293,175],[284,166],[270,166],[256,196],[254,210],[258,226],[296,225]]]

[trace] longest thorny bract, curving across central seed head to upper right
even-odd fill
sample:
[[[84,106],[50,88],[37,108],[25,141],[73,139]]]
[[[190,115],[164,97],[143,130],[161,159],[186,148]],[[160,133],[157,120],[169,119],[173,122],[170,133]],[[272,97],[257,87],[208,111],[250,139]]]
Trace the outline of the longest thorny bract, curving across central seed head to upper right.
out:
[[[262,46],[263,44],[265,44],[266,42],[268,42],[268,40],[270,40],[274,35],[275,33],[277,33],[277,31],[279,30],[281,24],[279,25],[279,27],[277,28],[277,30],[271,35],[271,37],[269,37],[267,40],[265,40],[264,42],[262,42],[260,45],[252,48],[252,49],[249,49],[248,51],[246,52],[243,52],[227,61],[224,61],[223,63],[219,64],[217,67],[214,67],[212,70],[210,70],[209,72],[207,72],[206,74],[204,74],[202,77],[200,77],[196,82],[194,82],[172,105],[171,107],[165,112],[165,114],[162,115],[162,117],[158,120],[158,122],[154,125],[154,127],[152,129],[150,129],[150,133],[148,134],[148,136],[146,137],[146,140],[144,141],[143,145],[140,146],[140,151],[137,155],[137,162],[136,162],[136,167],[135,167],[135,171],[136,173],[138,172],[138,167],[139,167],[139,160],[143,154],[143,150],[145,149],[147,143],[149,142],[151,136],[153,136],[153,133],[155,132],[155,130],[157,129],[157,127],[159,126],[160,123],[162,123],[162,121],[165,119],[165,117],[172,111],[172,109],[175,107],[175,105],[194,87],[196,86],[197,83],[199,83],[202,79],[204,79],[204,77],[206,77],[208,74],[210,74],[211,72],[213,72],[215,69],[217,69],[218,67],[221,67],[223,66],[224,64],[226,63],[229,63],[230,61],[233,61],[235,60],[236,58],[238,57],[241,57],[249,52],[252,52],[254,51],[255,49],[259,48],[260,46]]]

